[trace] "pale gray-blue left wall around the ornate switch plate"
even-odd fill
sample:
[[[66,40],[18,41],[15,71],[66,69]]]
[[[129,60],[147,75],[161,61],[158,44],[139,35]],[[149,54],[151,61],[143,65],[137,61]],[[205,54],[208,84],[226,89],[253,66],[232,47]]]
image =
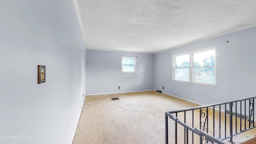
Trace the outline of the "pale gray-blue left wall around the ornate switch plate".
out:
[[[85,93],[86,48],[71,0],[2,0],[1,144],[69,144]],[[46,82],[37,84],[37,65]]]

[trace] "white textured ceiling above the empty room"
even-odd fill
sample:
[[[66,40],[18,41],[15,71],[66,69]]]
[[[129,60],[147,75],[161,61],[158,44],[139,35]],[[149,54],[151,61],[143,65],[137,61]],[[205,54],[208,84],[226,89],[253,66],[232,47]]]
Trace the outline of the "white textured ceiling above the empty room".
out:
[[[256,26],[256,0],[75,1],[87,49],[158,53]]]

